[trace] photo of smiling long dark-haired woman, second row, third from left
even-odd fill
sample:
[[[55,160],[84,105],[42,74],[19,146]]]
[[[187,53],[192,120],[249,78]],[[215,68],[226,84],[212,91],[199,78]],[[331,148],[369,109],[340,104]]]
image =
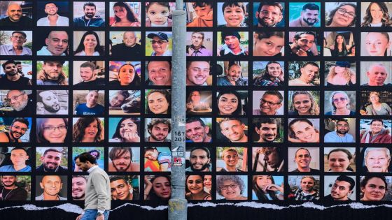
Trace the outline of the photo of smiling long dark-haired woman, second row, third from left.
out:
[[[80,37],[80,34],[83,32],[76,31],[73,33],[73,39],[75,39],[75,43],[77,39]],[[103,31],[86,31],[80,39],[79,45],[73,43],[74,47],[76,47],[73,55],[75,56],[104,56],[104,45],[101,45],[99,41],[99,36],[102,38],[102,43],[105,42],[104,32]]]

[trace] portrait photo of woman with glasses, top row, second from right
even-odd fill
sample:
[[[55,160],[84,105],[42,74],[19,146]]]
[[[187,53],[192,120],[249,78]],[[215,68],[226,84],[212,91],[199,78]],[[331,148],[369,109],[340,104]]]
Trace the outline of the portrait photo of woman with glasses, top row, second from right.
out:
[[[325,3],[325,11],[336,5],[337,2]],[[325,15],[325,27],[353,27],[356,22],[356,3],[341,3],[337,8]]]

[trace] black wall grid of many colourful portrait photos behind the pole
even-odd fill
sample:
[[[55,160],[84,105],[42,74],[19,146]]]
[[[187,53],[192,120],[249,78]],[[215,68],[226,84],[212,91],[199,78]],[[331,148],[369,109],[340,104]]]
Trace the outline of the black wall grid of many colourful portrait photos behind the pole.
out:
[[[0,200],[167,202],[175,8],[0,1]],[[183,8],[190,202],[392,200],[391,2]]]

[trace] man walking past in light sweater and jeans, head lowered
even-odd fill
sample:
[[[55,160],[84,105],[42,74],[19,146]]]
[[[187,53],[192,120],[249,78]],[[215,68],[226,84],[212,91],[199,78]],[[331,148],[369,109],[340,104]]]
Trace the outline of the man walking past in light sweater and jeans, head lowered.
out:
[[[85,186],[85,209],[76,220],[107,220],[111,208],[109,176],[99,168],[95,158],[85,152],[75,157],[76,166],[88,172]]]

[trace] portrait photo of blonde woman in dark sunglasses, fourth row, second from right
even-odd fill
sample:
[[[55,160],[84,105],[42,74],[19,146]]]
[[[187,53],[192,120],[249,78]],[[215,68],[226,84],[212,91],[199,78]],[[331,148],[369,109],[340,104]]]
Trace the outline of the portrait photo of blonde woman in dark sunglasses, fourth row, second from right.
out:
[[[328,97],[327,93],[325,97]],[[351,111],[351,99],[345,91],[333,91],[330,94],[329,103],[332,110],[325,112],[325,115],[355,115],[355,111]],[[325,105],[325,110],[327,109],[328,105]]]

